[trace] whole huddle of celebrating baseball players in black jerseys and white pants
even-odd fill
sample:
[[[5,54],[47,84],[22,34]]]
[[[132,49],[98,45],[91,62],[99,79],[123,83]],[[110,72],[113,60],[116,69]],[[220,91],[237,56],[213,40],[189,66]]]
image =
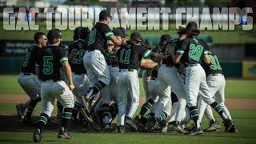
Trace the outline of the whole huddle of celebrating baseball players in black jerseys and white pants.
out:
[[[37,45],[26,52],[18,77],[30,100],[16,106],[23,122],[29,123],[34,107],[42,102],[34,142],[42,139],[55,98],[61,119],[58,138],[71,138],[67,132],[70,121],[81,122],[87,129],[94,123],[104,132],[114,131],[115,117],[116,131],[121,134],[127,128],[202,134],[203,114],[209,121],[203,131],[221,128],[211,108],[222,118],[226,132],[238,132],[224,105],[222,67],[206,42],[197,38],[200,31],[195,22],[179,27],[178,39],[163,34],[153,47],[137,31],[128,40],[124,28],[110,30],[110,21],[110,13],[102,10],[92,30],[74,30],[74,41],[68,47],[62,46],[58,29],[47,35],[34,34]],[[139,105],[139,68],[146,102],[134,116]],[[187,126],[190,119],[194,124]]]

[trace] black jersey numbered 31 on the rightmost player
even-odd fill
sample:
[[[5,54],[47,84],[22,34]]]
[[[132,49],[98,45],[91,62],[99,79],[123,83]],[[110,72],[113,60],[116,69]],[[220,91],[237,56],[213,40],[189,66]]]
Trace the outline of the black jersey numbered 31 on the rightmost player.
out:
[[[206,71],[206,75],[209,74],[223,74],[222,66],[218,62],[217,55],[209,52],[208,56],[210,57],[210,64],[202,61],[202,67]]]

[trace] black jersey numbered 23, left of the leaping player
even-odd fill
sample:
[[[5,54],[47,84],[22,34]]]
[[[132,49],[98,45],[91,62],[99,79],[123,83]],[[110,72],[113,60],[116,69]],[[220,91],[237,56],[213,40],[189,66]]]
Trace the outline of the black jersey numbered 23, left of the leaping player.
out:
[[[86,74],[85,66],[83,65],[83,56],[87,50],[87,42],[78,39],[70,44],[68,48],[69,62],[72,72],[78,74]]]

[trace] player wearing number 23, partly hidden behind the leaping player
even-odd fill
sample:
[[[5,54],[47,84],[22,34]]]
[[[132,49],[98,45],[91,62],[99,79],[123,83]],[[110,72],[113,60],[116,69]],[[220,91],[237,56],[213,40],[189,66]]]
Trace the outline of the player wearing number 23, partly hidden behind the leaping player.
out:
[[[86,27],[77,27],[74,30],[74,42],[68,47],[69,62],[72,70],[72,79],[74,82],[73,94],[76,96],[72,119],[78,120],[78,112],[83,107],[82,97],[86,97],[90,81],[86,76],[86,69],[83,65],[83,56],[87,50],[87,42],[90,30]]]

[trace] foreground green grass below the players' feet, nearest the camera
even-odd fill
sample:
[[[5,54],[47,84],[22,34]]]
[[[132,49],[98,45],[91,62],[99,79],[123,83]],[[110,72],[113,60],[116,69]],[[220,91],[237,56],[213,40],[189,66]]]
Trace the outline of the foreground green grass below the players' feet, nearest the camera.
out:
[[[45,130],[42,143],[255,143],[256,134],[254,125],[256,113],[254,110],[231,110],[234,121],[238,127],[238,134],[224,133],[223,128],[218,132],[204,133],[198,136],[188,136],[171,132],[167,134],[146,134],[146,133],[126,133],[126,134],[82,134],[78,131],[71,131],[73,138],[61,140],[57,138],[57,130]],[[222,122],[217,117],[218,122]],[[202,126],[206,126],[203,122]],[[0,142],[3,143],[30,143],[32,142],[31,131],[6,132],[0,131]],[[11,137],[10,137],[11,135]]]

